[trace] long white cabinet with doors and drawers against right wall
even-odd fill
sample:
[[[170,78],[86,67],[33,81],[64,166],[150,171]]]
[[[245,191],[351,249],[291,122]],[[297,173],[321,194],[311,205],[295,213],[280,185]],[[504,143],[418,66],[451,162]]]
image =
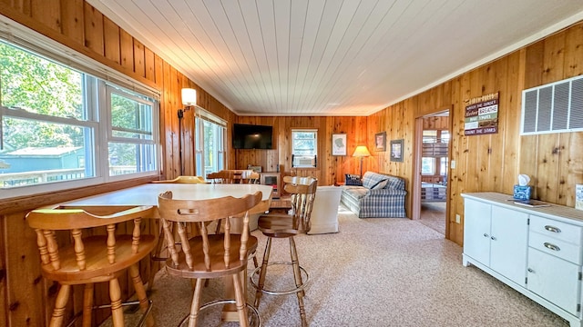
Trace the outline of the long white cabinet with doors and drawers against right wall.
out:
[[[531,300],[583,326],[583,213],[527,207],[502,193],[463,193],[463,264],[475,265]]]

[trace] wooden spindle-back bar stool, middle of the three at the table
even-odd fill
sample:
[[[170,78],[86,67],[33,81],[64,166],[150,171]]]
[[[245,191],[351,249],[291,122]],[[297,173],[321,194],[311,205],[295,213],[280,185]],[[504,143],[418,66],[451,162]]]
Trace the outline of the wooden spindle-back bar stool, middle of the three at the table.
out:
[[[164,233],[169,240],[170,258],[166,270],[171,275],[195,279],[194,295],[189,316],[189,327],[194,327],[199,311],[210,305],[233,302],[232,300],[200,304],[202,281],[210,278],[230,276],[232,278],[237,312],[241,326],[248,326],[247,306],[244,297],[244,283],[240,275],[247,270],[248,251],[251,243],[257,246],[257,238],[249,234],[249,210],[261,202],[261,192],[242,198],[231,196],[210,200],[173,200],[172,193],[159,195],[159,214]],[[241,215],[241,213],[244,213]],[[240,218],[237,218],[240,217]],[[243,231],[230,233],[230,219],[242,219]],[[224,220],[224,233],[212,234],[207,231],[208,223]],[[199,235],[189,237],[185,224],[195,223]],[[174,245],[173,228],[178,231],[181,246]],[[259,313],[251,307],[259,319]],[[182,323],[180,323],[181,325]]]

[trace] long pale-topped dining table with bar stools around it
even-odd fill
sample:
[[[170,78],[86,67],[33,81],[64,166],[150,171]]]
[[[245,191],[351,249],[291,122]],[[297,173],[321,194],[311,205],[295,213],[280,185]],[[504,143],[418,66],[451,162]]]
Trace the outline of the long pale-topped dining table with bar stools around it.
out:
[[[205,200],[216,199],[224,196],[243,197],[261,191],[261,203],[250,210],[251,214],[264,213],[269,210],[271,204],[272,188],[261,184],[220,184],[220,183],[147,183],[118,191],[101,193],[81,199],[58,203],[53,207],[58,208],[96,208],[96,207],[128,207],[138,205],[152,206],[151,216],[144,218],[159,218],[158,195],[166,191],[172,192],[172,197],[178,200]],[[241,274],[241,282],[246,285],[246,272]],[[225,297],[234,299],[232,281],[229,278],[225,282]],[[234,305],[227,305],[222,313],[223,321],[236,322],[239,315]]]

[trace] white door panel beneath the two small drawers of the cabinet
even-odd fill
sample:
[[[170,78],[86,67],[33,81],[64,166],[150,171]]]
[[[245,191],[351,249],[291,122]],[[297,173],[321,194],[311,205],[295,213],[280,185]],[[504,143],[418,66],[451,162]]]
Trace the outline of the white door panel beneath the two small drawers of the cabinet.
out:
[[[527,289],[578,315],[579,266],[528,248]]]

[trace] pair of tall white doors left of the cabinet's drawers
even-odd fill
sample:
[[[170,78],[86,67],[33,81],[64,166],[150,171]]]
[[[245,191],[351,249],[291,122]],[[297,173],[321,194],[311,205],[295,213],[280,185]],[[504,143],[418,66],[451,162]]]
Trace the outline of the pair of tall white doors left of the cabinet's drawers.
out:
[[[528,214],[470,199],[464,206],[465,265],[469,257],[524,285]]]

